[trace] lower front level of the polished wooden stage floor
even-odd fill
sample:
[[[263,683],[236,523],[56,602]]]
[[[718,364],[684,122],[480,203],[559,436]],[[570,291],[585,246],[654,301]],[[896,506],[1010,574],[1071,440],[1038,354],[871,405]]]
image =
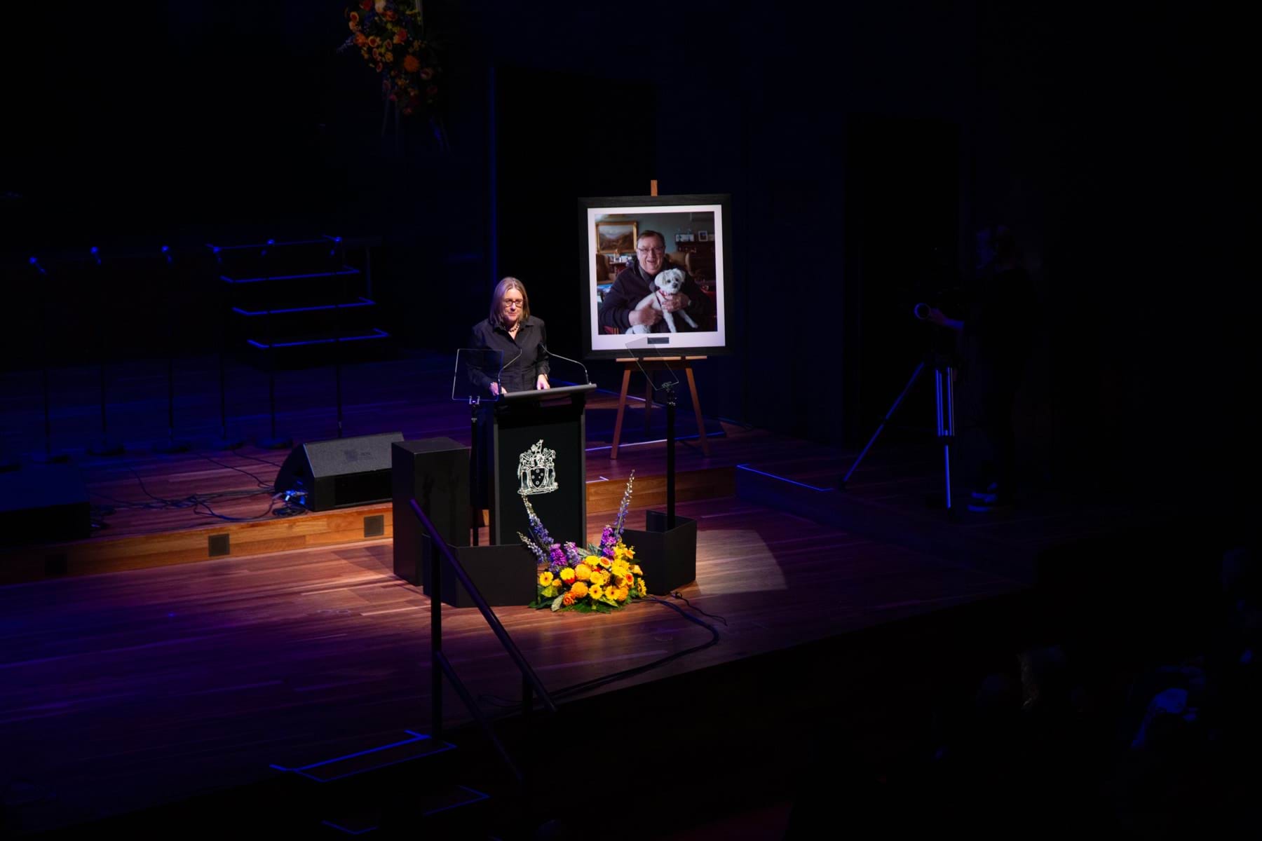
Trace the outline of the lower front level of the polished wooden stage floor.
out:
[[[680,513],[699,523],[698,577],[681,595],[726,620],[709,620],[718,643],[604,691],[1021,586],[733,498]],[[652,603],[496,613],[550,688],[711,638]],[[10,585],[0,615],[0,763],[24,792],[19,828],[250,783],[429,726],[429,600],[392,575],[389,541]],[[481,615],[444,619],[471,691],[516,699]]]

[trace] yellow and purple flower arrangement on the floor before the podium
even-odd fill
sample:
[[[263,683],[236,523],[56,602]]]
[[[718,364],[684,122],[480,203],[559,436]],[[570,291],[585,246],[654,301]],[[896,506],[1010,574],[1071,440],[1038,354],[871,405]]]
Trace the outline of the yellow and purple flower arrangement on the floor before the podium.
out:
[[[644,572],[635,562],[635,548],[622,542],[634,482],[632,472],[622,492],[617,519],[604,527],[598,543],[589,543],[587,548],[572,542],[554,543],[530,499],[521,498],[530,514],[533,538],[521,532],[517,537],[539,559],[535,600],[529,606],[551,608],[554,612],[612,613],[649,595]]]

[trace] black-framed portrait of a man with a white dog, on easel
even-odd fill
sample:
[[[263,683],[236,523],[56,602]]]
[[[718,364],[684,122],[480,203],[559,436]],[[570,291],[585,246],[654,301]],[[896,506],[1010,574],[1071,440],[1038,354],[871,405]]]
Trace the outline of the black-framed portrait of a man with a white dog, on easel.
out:
[[[586,358],[729,352],[731,195],[582,198],[578,217]],[[695,241],[714,247],[674,247]],[[611,280],[593,257],[615,247],[627,256],[608,262]],[[675,295],[683,305],[664,309]]]

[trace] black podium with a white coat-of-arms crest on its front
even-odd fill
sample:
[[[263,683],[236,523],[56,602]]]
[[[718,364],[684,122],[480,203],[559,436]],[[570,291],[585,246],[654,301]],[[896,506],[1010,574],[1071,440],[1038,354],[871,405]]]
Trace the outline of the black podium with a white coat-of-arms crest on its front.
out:
[[[558,542],[587,542],[587,395],[594,383],[505,392],[491,431],[492,543],[530,533],[522,496]]]

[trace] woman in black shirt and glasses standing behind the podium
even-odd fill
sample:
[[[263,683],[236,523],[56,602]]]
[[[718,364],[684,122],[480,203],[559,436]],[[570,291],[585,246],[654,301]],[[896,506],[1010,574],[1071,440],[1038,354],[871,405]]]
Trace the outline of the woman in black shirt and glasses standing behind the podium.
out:
[[[548,334],[544,322],[530,314],[530,296],[516,277],[505,277],[491,296],[491,314],[473,325],[469,347],[495,351],[493,366],[469,366],[469,376],[490,402],[480,403],[477,429],[473,435],[472,503],[475,521],[481,523],[481,511],[490,507],[491,490],[491,421],[495,401],[504,392],[549,388]],[[495,354],[490,354],[495,357]]]

